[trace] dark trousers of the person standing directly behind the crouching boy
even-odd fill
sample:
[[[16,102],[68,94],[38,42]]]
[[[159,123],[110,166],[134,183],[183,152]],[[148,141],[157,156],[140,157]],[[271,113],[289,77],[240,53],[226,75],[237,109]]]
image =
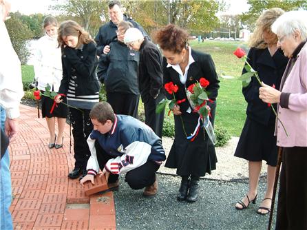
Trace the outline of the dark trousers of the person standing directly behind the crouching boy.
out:
[[[123,114],[138,118],[138,101],[140,95],[107,92],[107,102],[112,106],[115,114]]]

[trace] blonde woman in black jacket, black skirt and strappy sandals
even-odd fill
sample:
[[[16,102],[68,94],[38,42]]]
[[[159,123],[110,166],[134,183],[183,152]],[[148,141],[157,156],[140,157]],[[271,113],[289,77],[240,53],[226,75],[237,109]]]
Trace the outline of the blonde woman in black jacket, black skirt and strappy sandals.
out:
[[[271,32],[271,25],[284,13],[279,8],[266,10],[258,19],[257,27],[251,37],[251,50],[247,61],[258,72],[260,80],[266,85],[275,85],[279,89],[282,74],[288,63],[282,50],[277,49],[277,36]],[[243,74],[246,72],[243,69]],[[235,156],[248,160],[249,191],[242,200],[235,205],[236,209],[245,209],[257,198],[257,187],[262,167],[262,160],[268,165],[267,188],[264,200],[257,213],[265,215],[271,211],[271,199],[275,169],[277,164],[277,146],[275,130],[275,114],[270,105],[259,98],[260,84],[253,77],[242,92],[248,103],[246,121],[242,129]],[[274,105],[275,110],[276,106]]]

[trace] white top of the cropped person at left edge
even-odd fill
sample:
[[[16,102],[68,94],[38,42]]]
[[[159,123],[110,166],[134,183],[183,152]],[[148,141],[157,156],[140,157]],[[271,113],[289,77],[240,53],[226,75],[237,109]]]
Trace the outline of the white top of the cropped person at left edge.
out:
[[[6,109],[8,118],[17,118],[20,115],[19,103],[23,97],[21,63],[2,20],[0,20],[0,50],[0,105]]]

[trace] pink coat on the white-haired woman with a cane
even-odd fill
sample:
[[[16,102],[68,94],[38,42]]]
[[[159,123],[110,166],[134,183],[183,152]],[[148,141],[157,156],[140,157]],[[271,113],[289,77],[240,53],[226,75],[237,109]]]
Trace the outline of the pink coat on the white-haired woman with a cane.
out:
[[[282,92],[290,93],[288,109],[278,108],[277,145],[307,147],[307,43],[297,55],[297,61],[284,83]]]

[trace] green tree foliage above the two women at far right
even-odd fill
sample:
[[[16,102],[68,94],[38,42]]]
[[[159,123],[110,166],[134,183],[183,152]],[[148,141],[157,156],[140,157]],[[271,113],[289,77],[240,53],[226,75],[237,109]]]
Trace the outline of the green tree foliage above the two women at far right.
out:
[[[299,8],[307,9],[307,1],[305,0],[248,0],[247,3],[251,7],[248,12],[242,14],[241,19],[251,30],[255,28],[255,21],[264,10],[275,7],[284,11],[298,10]]]

